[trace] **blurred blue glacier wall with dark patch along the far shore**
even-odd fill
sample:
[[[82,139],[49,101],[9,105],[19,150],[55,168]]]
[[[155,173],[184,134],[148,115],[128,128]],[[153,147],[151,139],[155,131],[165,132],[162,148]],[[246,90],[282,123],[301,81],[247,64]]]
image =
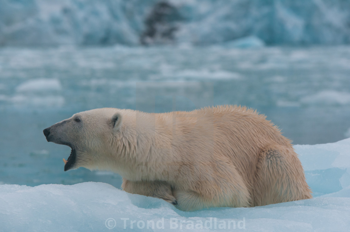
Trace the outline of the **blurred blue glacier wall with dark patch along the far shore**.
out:
[[[350,43],[344,0],[0,0],[0,6],[0,45],[207,45],[250,36],[267,45]]]

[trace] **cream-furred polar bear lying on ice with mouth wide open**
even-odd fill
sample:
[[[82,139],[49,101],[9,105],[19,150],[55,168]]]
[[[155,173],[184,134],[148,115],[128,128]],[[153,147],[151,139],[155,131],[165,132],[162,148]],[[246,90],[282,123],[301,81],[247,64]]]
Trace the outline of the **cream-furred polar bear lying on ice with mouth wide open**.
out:
[[[48,142],[71,147],[64,171],[110,170],[128,193],[184,211],[311,198],[290,140],[265,118],[240,106],[162,114],[102,108],[43,132]]]

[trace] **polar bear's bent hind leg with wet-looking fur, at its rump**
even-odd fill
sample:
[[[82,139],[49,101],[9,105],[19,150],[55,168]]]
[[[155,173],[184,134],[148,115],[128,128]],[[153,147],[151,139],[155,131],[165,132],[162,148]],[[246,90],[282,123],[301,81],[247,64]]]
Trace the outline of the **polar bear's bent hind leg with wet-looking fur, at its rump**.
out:
[[[253,183],[253,206],[312,198],[304,170],[292,147],[262,149]]]

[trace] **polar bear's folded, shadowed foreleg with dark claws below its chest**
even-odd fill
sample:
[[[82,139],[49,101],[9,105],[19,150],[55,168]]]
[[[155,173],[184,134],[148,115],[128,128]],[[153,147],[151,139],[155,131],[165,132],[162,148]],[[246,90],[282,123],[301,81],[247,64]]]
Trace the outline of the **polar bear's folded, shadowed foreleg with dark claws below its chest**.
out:
[[[128,181],[123,178],[121,188],[128,193],[157,197],[173,205],[177,204],[172,187],[165,181]]]

